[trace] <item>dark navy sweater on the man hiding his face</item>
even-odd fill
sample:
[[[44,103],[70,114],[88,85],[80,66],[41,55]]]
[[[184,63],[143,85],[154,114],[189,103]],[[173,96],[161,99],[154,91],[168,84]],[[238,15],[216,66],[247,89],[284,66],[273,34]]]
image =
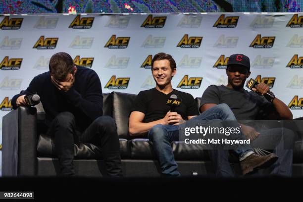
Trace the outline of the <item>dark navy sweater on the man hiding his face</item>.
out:
[[[50,72],[34,77],[26,91],[12,98],[13,108],[17,108],[16,100],[19,96],[33,92],[40,96],[48,126],[58,113],[69,111],[74,114],[77,125],[85,129],[103,113],[100,79],[94,70],[86,67],[77,66],[75,82],[67,92],[58,90],[52,84]]]

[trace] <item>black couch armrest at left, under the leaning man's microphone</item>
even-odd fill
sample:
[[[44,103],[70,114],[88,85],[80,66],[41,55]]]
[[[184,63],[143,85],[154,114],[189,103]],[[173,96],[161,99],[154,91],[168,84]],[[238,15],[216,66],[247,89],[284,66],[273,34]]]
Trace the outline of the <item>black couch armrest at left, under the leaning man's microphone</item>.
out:
[[[2,118],[2,176],[33,176],[37,169],[37,109],[18,107]]]

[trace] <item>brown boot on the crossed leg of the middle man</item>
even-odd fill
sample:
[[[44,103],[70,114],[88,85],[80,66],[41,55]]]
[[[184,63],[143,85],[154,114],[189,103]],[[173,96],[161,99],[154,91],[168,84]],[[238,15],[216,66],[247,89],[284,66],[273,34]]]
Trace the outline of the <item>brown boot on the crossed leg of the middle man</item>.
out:
[[[253,153],[240,161],[243,175],[253,172],[256,169],[266,168],[274,164],[278,160],[278,156],[274,153],[268,155],[258,155]]]

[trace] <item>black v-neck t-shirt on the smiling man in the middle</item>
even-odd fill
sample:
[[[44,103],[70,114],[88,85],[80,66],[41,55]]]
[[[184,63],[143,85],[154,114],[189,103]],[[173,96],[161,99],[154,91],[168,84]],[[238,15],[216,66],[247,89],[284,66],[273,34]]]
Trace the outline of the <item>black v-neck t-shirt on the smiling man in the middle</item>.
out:
[[[176,107],[176,112],[182,116],[184,120],[188,116],[199,115],[198,106],[191,94],[184,93],[173,89],[169,94],[164,94],[155,88],[141,91],[132,106],[131,111],[140,111],[145,114],[144,123],[164,118],[170,110],[170,106],[166,104],[171,95],[176,95],[177,100],[181,101],[180,106]]]

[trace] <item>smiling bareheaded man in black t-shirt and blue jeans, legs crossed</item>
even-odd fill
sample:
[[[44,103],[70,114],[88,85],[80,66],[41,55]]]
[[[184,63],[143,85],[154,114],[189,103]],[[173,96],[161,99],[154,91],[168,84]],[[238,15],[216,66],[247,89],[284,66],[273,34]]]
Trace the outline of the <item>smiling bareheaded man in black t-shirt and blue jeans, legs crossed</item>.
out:
[[[176,62],[171,55],[163,52],[154,55],[152,76],[156,87],[138,94],[129,118],[129,134],[131,136],[148,134],[159,160],[162,174],[165,176],[180,175],[170,143],[179,140],[179,131],[184,128],[185,124],[206,126],[207,121],[212,119],[236,122],[234,114],[226,104],[218,104],[199,115],[193,96],[172,88],[171,79],[175,74]],[[170,103],[168,100],[176,101],[172,102],[176,105],[167,105],[167,102]],[[235,135],[235,139],[246,140],[241,132]],[[244,174],[257,166],[271,164],[277,159],[273,154],[253,156],[252,158],[253,151],[249,144],[242,145],[241,151],[243,165],[246,165],[243,170]]]

